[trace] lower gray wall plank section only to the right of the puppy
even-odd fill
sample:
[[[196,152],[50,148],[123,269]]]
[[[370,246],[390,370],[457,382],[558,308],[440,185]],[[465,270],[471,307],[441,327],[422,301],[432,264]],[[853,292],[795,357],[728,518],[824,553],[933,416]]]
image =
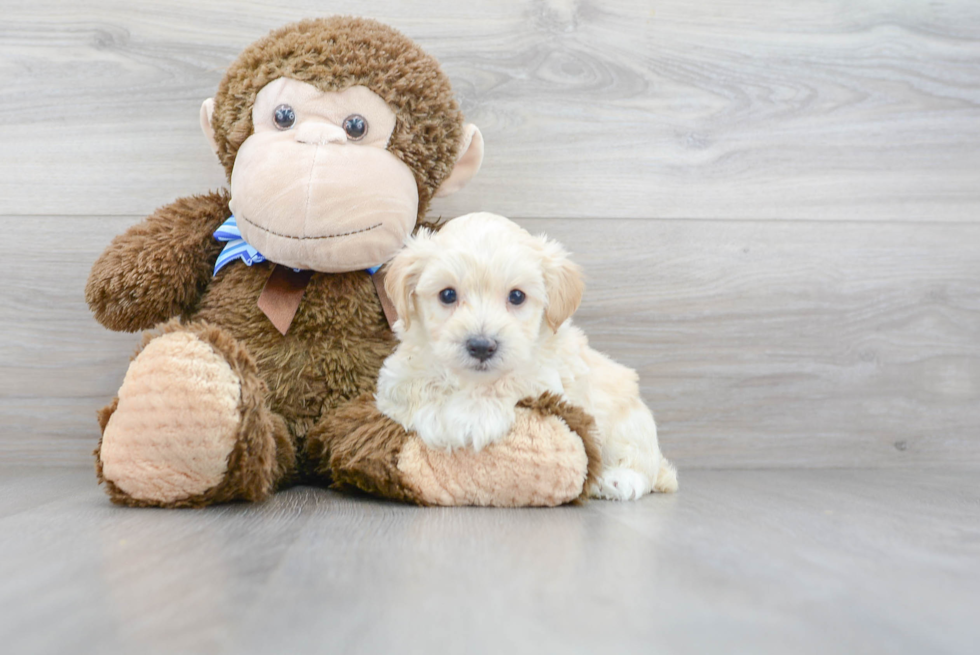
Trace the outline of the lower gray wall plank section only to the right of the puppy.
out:
[[[980,461],[977,226],[526,224],[576,252],[576,321],[640,372],[678,460]]]

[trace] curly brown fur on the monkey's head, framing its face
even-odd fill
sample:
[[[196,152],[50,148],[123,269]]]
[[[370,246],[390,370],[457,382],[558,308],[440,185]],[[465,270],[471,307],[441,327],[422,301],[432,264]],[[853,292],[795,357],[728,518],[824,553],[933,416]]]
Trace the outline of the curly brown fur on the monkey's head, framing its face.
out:
[[[378,61],[396,62],[378,66]],[[287,25],[246,48],[214,97],[212,126],[228,179],[252,134],[252,105],[269,82],[290,77],[321,91],[360,85],[394,110],[388,150],[415,173],[419,220],[459,152],[463,117],[439,63],[411,39],[377,21],[335,16]]]

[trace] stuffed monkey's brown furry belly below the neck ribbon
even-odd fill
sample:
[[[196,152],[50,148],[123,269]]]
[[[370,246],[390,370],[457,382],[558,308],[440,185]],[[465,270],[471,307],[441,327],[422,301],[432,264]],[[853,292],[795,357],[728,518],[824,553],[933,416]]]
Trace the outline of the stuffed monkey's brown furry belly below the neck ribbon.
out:
[[[257,305],[271,272],[269,263],[226,266],[188,318],[227,330],[248,349],[271,409],[301,436],[325,411],[374,390],[395,337],[363,271],[315,273],[289,331],[280,334]]]

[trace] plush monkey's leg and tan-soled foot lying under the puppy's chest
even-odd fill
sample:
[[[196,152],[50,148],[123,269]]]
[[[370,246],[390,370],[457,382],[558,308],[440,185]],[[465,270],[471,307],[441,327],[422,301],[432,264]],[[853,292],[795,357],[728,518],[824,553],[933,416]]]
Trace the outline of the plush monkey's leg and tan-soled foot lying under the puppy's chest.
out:
[[[335,486],[420,505],[555,506],[583,499],[601,468],[592,417],[545,394],[518,404],[505,439],[480,451],[429,448],[370,394],[311,430],[307,460]]]

